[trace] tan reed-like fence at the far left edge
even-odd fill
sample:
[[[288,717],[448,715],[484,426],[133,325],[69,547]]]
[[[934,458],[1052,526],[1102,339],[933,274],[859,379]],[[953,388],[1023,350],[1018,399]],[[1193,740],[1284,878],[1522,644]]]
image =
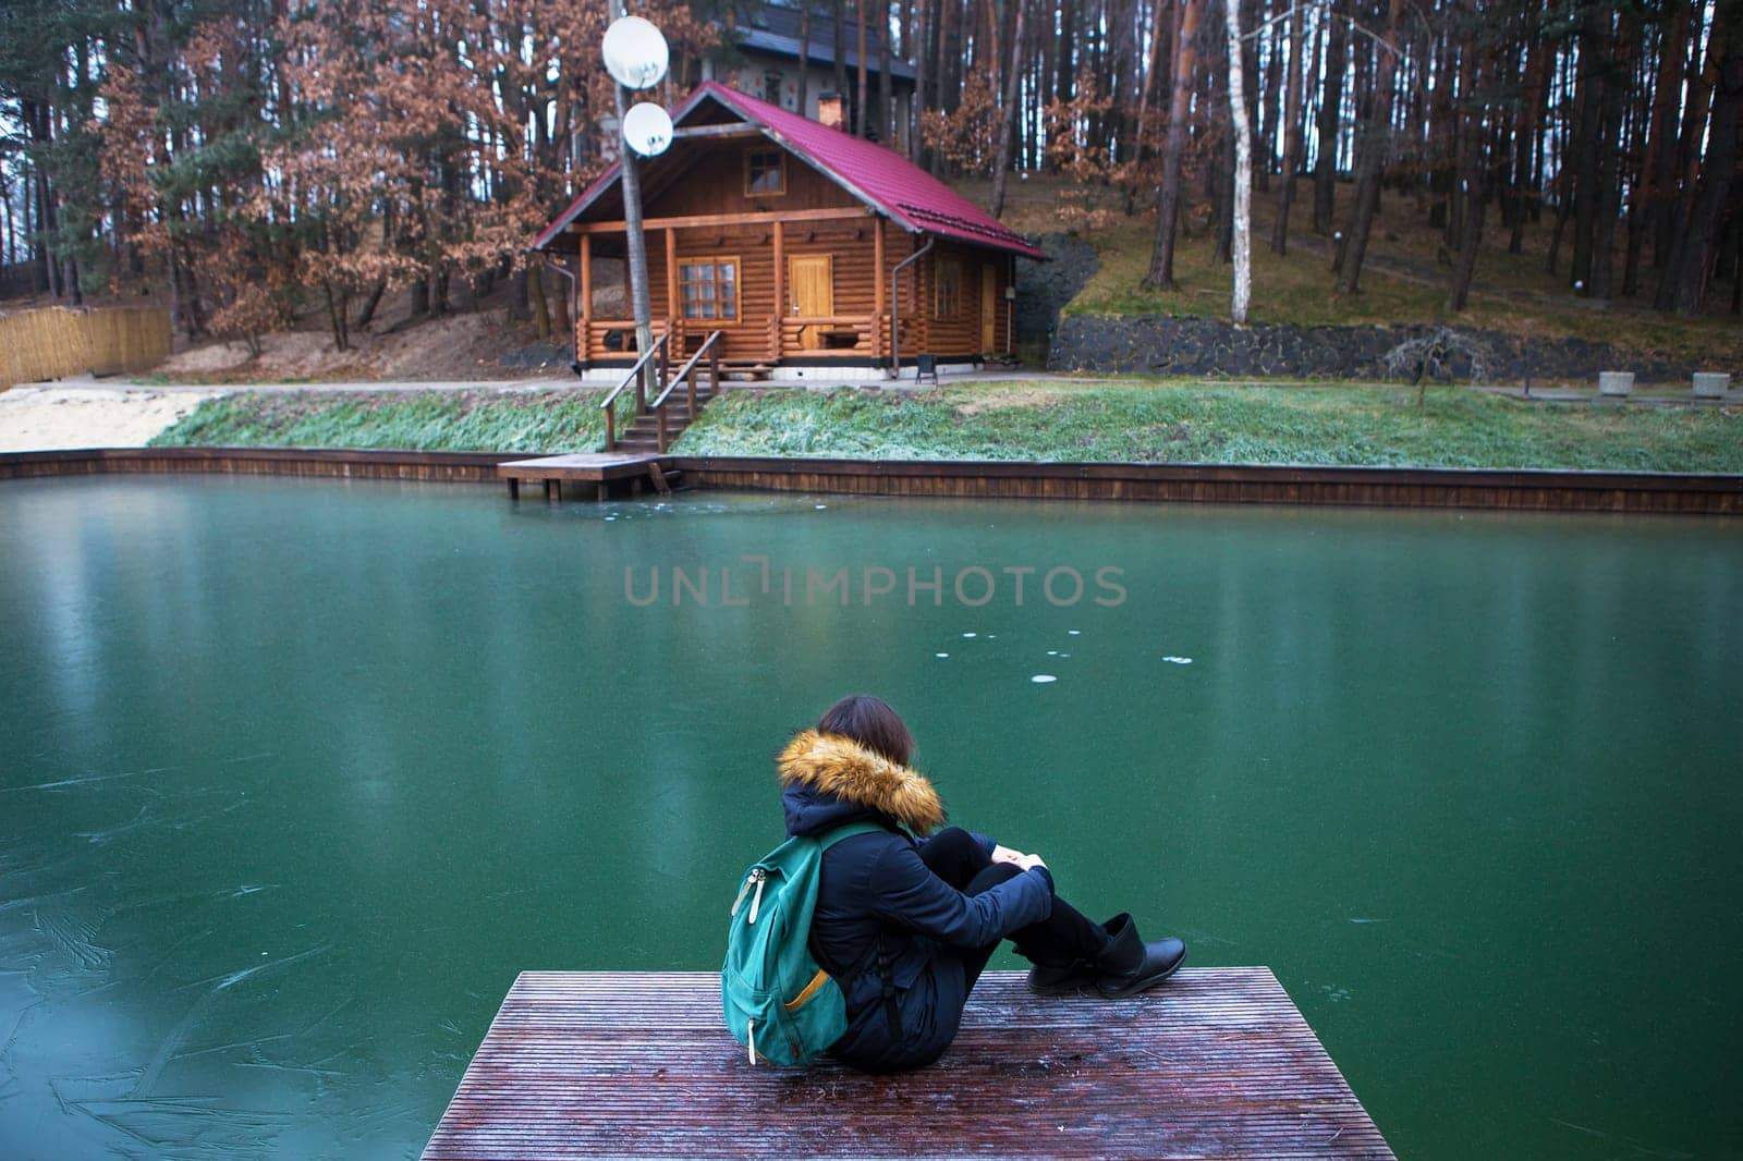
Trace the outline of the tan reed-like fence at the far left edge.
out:
[[[24,310],[0,316],[0,390],[66,375],[145,371],[169,356],[169,310]]]

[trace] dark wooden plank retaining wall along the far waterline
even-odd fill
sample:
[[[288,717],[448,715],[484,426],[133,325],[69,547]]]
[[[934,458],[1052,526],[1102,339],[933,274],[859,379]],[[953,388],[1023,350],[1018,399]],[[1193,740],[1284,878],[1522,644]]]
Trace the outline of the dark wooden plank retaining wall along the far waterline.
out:
[[[516,458],[525,458],[525,453],[96,448],[3,453],[0,479],[101,472],[235,472],[497,483],[497,464]],[[760,492],[1743,514],[1743,476],[685,455],[652,458],[662,469],[680,472],[682,486]]]

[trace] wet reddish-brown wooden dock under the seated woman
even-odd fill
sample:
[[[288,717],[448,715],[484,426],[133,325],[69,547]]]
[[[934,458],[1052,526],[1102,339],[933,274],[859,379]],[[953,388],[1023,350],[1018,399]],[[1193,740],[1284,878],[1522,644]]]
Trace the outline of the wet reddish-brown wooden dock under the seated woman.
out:
[[[981,978],[929,1069],[751,1067],[715,973],[528,971],[425,1161],[483,1158],[1391,1158],[1269,968],[1138,999]]]

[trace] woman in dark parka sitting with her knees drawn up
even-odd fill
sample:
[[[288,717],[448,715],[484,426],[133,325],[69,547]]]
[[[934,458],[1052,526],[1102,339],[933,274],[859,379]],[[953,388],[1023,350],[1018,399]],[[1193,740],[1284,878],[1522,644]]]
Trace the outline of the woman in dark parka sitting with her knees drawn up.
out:
[[[959,826],[938,832],[943,804],[908,769],[912,751],[894,710],[852,696],[777,758],[790,835],[882,826],[823,854],[810,954],[847,997],[847,1032],[831,1056],[866,1072],[938,1060],[1006,938],[1034,964],[1028,987],[1044,995],[1095,988],[1117,999],[1173,974],[1187,954],[1180,940],[1145,943],[1128,913],[1091,922],[1053,893],[1041,856]]]

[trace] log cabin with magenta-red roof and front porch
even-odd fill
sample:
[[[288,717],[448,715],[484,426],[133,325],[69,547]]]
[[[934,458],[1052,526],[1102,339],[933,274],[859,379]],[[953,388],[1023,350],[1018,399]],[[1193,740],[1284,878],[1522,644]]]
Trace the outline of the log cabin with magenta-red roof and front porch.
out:
[[[720,331],[755,378],[913,373],[1014,352],[1016,260],[1046,253],[899,153],[702,82],[671,146],[641,162],[654,333],[673,354]],[[575,263],[575,370],[634,363],[621,169],[533,242]],[[603,293],[610,286],[612,293]]]

